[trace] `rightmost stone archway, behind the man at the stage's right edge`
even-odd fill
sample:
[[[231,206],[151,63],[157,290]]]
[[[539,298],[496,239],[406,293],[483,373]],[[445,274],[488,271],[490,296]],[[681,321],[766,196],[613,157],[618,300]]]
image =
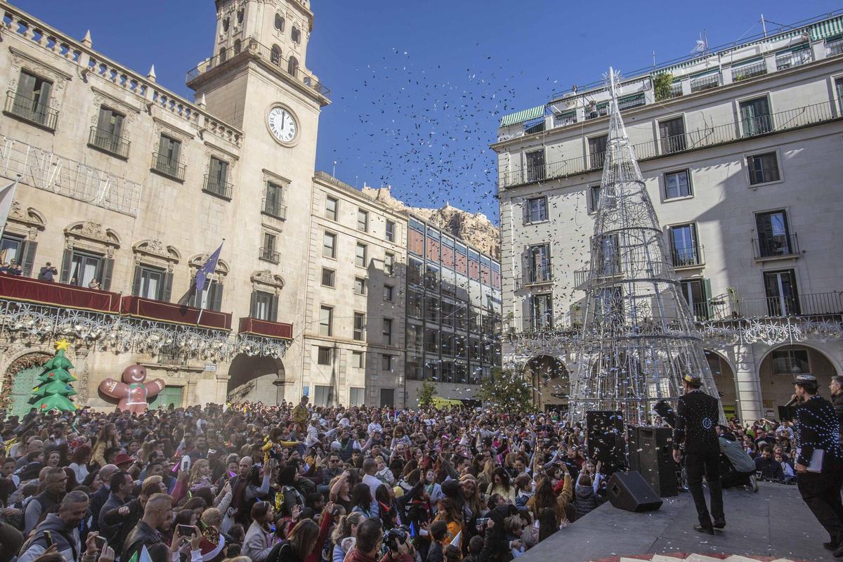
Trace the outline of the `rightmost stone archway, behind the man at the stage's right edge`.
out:
[[[768,351],[758,372],[765,417],[781,419],[786,415],[784,405],[793,394],[796,372],[809,372],[817,377],[819,393],[826,399],[831,377],[840,374],[822,351],[810,345],[781,345]]]

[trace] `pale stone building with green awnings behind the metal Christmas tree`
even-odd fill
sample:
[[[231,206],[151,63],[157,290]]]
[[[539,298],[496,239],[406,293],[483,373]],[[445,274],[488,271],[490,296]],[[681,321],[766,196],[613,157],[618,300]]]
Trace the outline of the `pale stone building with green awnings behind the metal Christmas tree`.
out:
[[[626,78],[620,109],[727,414],[843,372],[843,18]],[[599,84],[503,117],[504,365],[566,409],[608,128]],[[599,249],[593,249],[599,251]],[[827,391],[825,391],[827,393]]]

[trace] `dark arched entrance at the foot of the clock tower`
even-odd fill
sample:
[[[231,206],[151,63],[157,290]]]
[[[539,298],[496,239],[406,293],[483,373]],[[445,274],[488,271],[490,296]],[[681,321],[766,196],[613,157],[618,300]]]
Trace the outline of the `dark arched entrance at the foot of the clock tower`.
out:
[[[277,404],[284,399],[284,364],[280,359],[241,353],[228,368],[228,400]]]

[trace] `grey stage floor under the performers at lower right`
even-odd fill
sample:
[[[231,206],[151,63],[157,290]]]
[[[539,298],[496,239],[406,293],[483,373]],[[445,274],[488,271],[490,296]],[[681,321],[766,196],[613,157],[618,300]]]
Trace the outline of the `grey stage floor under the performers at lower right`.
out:
[[[828,533],[805,506],[795,485],[760,482],[757,493],[723,490],[727,527],[713,537],[697,533],[694,501],[687,492],[664,498],[650,513],[622,511],[606,502],[518,557],[518,562],[592,562],[646,554],[676,559],[835,560],[823,548]],[[706,490],[706,497],[708,490]],[[683,554],[684,553],[684,554]],[[702,554],[690,556],[690,554]],[[711,558],[708,558],[711,557]],[[673,558],[673,557],[671,557]],[[661,556],[654,559],[663,560]],[[733,560],[741,559],[731,557]]]

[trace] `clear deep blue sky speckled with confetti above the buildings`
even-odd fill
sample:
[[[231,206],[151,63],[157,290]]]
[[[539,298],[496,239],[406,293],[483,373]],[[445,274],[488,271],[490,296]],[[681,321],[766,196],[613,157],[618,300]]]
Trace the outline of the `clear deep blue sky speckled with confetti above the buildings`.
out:
[[[210,55],[212,0],[17,0],[20,8],[179,94]],[[392,185],[412,206],[446,201],[497,222],[494,141],[500,115],[590,83],[840,8],[826,0],[602,2],[312,0],[307,66],[333,91],[317,169],[352,185]]]

